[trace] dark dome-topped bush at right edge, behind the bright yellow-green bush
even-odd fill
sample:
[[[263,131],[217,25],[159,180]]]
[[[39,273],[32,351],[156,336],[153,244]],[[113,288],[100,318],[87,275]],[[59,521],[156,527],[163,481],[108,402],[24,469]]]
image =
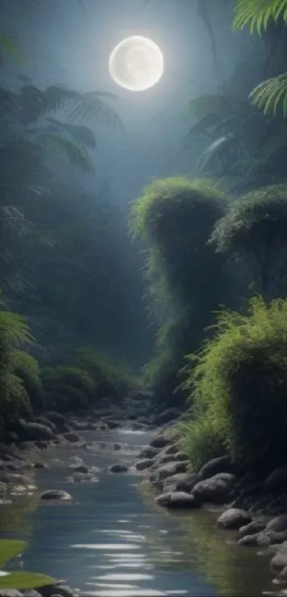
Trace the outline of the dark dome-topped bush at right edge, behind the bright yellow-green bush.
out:
[[[286,295],[287,186],[274,184],[233,201],[214,228],[217,251],[249,268],[265,300]]]

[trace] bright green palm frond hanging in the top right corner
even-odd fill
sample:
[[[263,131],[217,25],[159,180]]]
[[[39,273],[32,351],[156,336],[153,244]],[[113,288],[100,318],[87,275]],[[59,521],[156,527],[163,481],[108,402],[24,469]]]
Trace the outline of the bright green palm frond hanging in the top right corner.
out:
[[[251,33],[266,31],[271,20],[287,20],[287,0],[237,0],[232,30],[249,25]]]

